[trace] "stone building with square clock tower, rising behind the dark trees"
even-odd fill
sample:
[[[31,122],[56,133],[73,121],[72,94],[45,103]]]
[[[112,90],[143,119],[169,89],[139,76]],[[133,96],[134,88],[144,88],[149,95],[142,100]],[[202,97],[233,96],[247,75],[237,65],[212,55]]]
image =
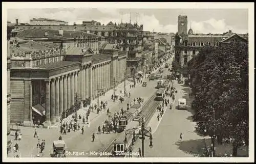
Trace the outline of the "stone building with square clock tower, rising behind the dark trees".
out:
[[[187,16],[178,17],[178,32],[175,35],[175,77],[189,78],[187,63],[195,57],[203,46],[220,46],[233,41],[247,41],[247,35],[238,35],[229,30],[223,34],[194,34],[190,28],[187,32]]]

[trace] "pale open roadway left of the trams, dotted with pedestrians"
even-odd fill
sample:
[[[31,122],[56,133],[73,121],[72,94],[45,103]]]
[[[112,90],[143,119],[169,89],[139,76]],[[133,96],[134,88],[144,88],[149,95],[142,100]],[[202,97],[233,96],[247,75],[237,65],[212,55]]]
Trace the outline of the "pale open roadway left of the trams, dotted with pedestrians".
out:
[[[162,65],[164,67],[164,64]],[[167,68],[164,68],[163,75],[166,75],[168,72]],[[151,95],[156,91],[156,80],[148,80],[148,78],[144,78],[143,81],[147,81],[147,86],[142,87],[142,83],[136,83],[135,88],[132,88],[131,98],[125,97],[125,100],[120,103],[118,100],[113,102],[111,100],[111,93],[106,93],[106,95],[109,95],[109,98],[107,97],[108,106],[106,106],[106,109],[109,107],[111,114],[113,115],[115,112],[120,111],[121,107],[123,107],[124,110],[126,110],[127,103],[131,102],[134,98],[142,97],[144,99],[144,102],[148,98],[151,97]],[[127,92],[129,93],[130,85],[126,86]],[[123,87],[117,87],[116,93],[117,95],[120,95],[120,90],[123,91]],[[102,96],[103,97],[103,96]],[[106,101],[105,99],[102,99],[103,101]],[[99,98],[99,101],[101,99]],[[94,101],[95,102],[95,101]],[[80,109],[78,112],[78,115],[81,115],[82,117],[86,115],[86,111]],[[91,115],[94,115],[94,119],[91,119]],[[77,156],[76,154],[72,152],[78,152],[78,157],[98,157],[98,155],[92,154],[93,152],[102,152],[105,150],[111,142],[117,138],[118,133],[111,133],[111,134],[97,134],[98,126],[102,127],[102,124],[105,120],[108,119],[108,115],[106,114],[106,110],[102,110],[99,114],[94,110],[91,112],[89,117],[90,120],[90,127],[84,126],[84,133],[81,134],[81,130],[70,133],[67,133],[66,135],[60,134],[59,128],[57,129],[44,129],[44,128],[36,128],[40,142],[42,139],[46,140],[46,146],[43,153],[39,153],[41,157],[50,157],[50,154],[53,153],[52,148],[52,142],[54,140],[58,140],[59,136],[61,135],[62,140],[66,142],[67,145],[67,157],[74,157]],[[63,121],[65,122],[65,121]],[[80,124],[80,123],[79,123]],[[81,125],[81,124],[80,124]],[[22,141],[17,141],[19,144],[20,149],[20,156],[22,157],[35,157],[38,154],[38,149],[36,148],[37,144],[37,138],[33,138],[34,135],[34,128],[24,128],[21,127],[21,131],[23,133],[23,139]],[[92,134],[95,133],[95,140],[92,142]],[[49,135],[51,134],[51,135]],[[10,138],[14,138],[14,136],[10,136]],[[13,139],[12,139],[13,140]],[[15,144],[15,142],[13,142]],[[13,153],[8,154],[8,156],[13,156]]]

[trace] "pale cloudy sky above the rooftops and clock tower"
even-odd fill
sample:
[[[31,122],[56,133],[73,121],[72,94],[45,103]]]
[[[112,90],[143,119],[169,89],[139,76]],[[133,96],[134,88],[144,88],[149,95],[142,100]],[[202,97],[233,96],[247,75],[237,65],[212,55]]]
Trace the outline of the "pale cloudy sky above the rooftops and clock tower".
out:
[[[247,9],[111,9],[111,8],[56,8],[56,9],[8,9],[8,21],[29,23],[32,18],[51,18],[68,21],[69,24],[81,23],[83,20],[96,20],[101,24],[108,22],[136,22],[143,24],[144,31],[176,33],[179,15],[188,16],[188,29],[194,33],[224,33],[232,30],[234,33],[248,33]]]

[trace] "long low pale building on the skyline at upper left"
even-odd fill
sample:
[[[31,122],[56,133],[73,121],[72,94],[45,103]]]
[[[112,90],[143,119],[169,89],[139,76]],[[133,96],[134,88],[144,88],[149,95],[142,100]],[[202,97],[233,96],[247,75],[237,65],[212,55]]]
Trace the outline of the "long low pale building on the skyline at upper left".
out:
[[[68,25],[68,22],[57,19],[33,18],[30,19],[30,25]]]

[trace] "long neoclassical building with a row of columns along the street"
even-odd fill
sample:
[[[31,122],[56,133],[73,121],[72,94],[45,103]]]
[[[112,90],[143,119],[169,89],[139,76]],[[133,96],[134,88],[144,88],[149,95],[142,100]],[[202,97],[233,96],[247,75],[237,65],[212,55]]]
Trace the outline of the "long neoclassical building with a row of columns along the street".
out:
[[[60,40],[62,40],[61,38]],[[83,37],[57,48],[31,40],[13,39],[10,45],[10,123],[31,126],[35,116],[44,126],[66,117],[78,101],[97,97],[97,85],[109,90],[124,80],[126,51],[111,45],[96,53]],[[54,45],[54,43],[52,43]],[[73,46],[72,46],[73,44]],[[66,46],[65,46],[66,45]],[[97,45],[96,45],[97,48]]]

